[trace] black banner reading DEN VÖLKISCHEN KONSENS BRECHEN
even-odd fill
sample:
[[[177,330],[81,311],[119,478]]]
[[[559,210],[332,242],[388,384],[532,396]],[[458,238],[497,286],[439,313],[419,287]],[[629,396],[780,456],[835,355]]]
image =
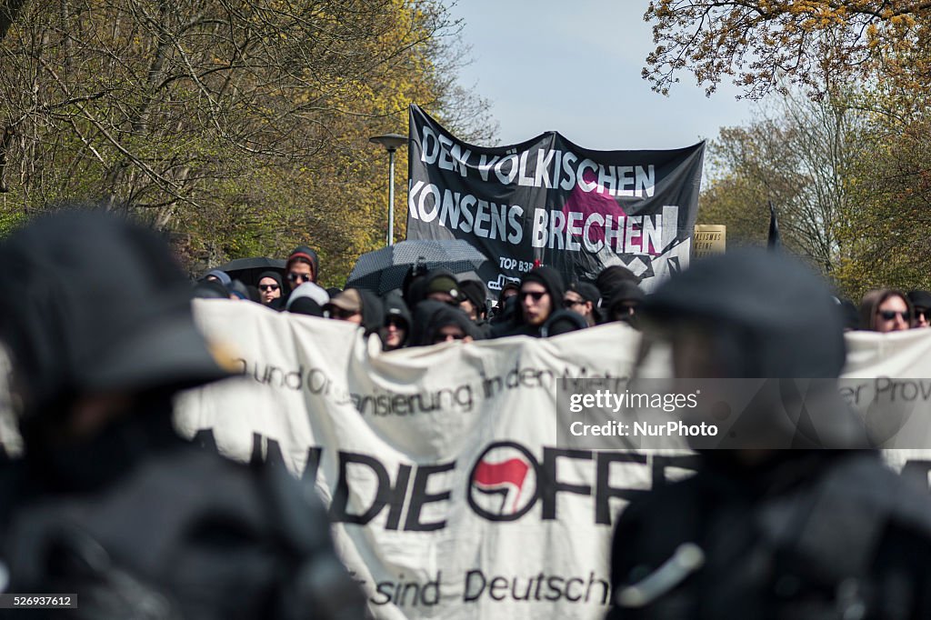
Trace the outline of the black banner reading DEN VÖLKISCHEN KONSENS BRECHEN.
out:
[[[409,239],[466,239],[488,256],[495,295],[534,261],[568,281],[613,264],[653,290],[688,266],[705,143],[593,151],[549,131],[485,148],[411,106]]]

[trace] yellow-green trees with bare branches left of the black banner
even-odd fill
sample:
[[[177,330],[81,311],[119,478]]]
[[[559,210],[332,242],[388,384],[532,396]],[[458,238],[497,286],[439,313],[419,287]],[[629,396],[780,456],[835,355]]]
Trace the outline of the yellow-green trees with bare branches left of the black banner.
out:
[[[0,229],[102,200],[192,271],[307,243],[340,283],[384,244],[368,138],[411,102],[489,127],[450,78],[458,29],[434,0],[0,0]]]

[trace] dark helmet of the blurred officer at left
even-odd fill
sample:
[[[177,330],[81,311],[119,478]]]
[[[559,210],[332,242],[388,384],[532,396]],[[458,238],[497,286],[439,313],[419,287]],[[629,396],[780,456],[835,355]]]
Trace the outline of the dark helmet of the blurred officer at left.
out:
[[[0,337],[26,415],[61,398],[228,376],[154,233],[100,211],[40,217],[0,243]]]

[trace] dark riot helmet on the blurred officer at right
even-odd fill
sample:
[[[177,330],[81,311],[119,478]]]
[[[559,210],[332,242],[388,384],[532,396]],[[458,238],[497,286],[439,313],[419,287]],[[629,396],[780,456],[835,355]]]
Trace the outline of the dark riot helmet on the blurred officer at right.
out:
[[[821,276],[781,252],[738,249],[695,261],[646,298],[658,321],[704,323],[722,340],[731,378],[836,378],[843,324]]]

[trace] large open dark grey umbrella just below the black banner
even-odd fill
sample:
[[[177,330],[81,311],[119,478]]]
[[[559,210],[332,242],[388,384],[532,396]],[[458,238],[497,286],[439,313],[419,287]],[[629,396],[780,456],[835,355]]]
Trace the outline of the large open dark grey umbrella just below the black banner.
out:
[[[487,262],[485,255],[462,239],[412,239],[358,257],[346,288],[374,290],[384,294],[400,288],[411,267],[424,263],[427,269],[442,267],[453,274],[476,271]]]

